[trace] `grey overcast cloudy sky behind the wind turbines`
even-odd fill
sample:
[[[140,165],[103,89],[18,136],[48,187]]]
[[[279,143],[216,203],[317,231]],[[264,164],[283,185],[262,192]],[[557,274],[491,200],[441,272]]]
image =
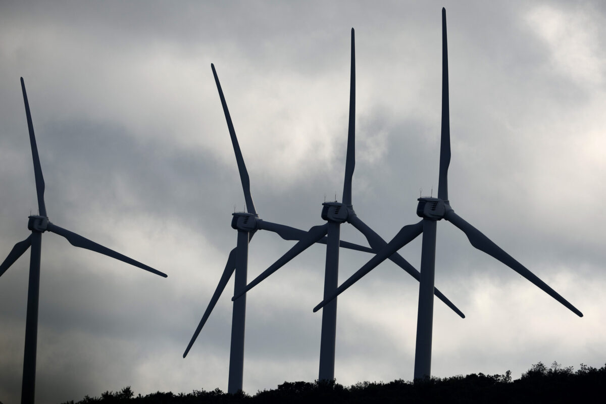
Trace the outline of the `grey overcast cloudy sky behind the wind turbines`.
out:
[[[438,224],[432,373],[606,362],[606,10],[601,2],[0,4],[0,259],[37,210],[19,77],[53,223],[167,279],[42,237],[39,403],[227,389],[233,280],[186,359],[244,196],[210,69],[260,216],[307,230],[341,199],[356,30],[353,206],[384,239],[436,196],[447,8],[451,206],[579,308],[577,317]],[[344,240],[366,245],[351,225]],[[248,280],[293,242],[259,232]],[[400,251],[419,268],[421,237]],[[325,247],[247,297],[244,390],[318,377]],[[341,251],[339,283],[370,256]],[[21,394],[29,253],[0,278],[0,401]],[[335,377],[413,377],[418,283],[385,262],[338,300]]]

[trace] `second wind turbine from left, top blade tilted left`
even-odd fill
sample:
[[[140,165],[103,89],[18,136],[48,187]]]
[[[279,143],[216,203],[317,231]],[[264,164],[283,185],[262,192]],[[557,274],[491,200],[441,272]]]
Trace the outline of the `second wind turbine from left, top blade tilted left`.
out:
[[[290,226],[268,222],[267,220],[262,220],[259,218],[259,215],[257,214],[257,211],[255,209],[255,204],[253,203],[253,198],[250,194],[250,179],[248,177],[248,171],[246,170],[246,165],[244,164],[244,158],[242,157],[242,152],[238,144],[238,137],[236,137],[236,131],[233,128],[233,123],[231,122],[231,116],[227,108],[227,102],[225,101],[223,90],[221,89],[221,83],[219,83],[219,78],[215,70],[215,65],[211,64],[210,66],[213,70],[213,76],[215,76],[215,83],[217,85],[217,90],[219,91],[219,98],[221,99],[221,105],[223,106],[225,120],[227,121],[227,128],[230,133],[233,151],[236,154],[236,162],[238,163],[238,171],[240,174],[240,180],[242,182],[242,190],[244,190],[244,199],[246,202],[247,211],[233,213],[231,227],[235,230],[238,230],[238,242],[236,244],[236,248],[230,251],[227,263],[225,264],[225,269],[223,271],[223,274],[221,275],[221,279],[219,279],[219,283],[215,289],[215,293],[213,293],[213,297],[211,297],[206,311],[204,312],[204,316],[202,316],[202,319],[198,324],[198,328],[196,328],[196,331],[191,337],[191,340],[187,345],[187,348],[185,349],[183,357],[187,356],[187,353],[190,351],[191,346],[196,341],[196,338],[198,338],[200,331],[202,331],[202,327],[204,327],[206,321],[208,320],[208,316],[210,316],[210,313],[213,311],[213,308],[215,308],[219,297],[221,297],[221,294],[223,293],[223,290],[225,289],[225,286],[227,285],[227,282],[230,280],[231,274],[233,274],[234,271],[236,273],[234,293],[241,293],[241,291],[244,290],[246,286],[247,277],[248,243],[250,242],[257,230],[273,231],[285,240],[301,240],[302,238],[307,236],[307,231],[299,230]],[[315,242],[327,243],[327,239],[322,239],[322,237],[319,237],[319,239],[315,240]],[[374,254],[378,253],[378,251],[373,250],[372,248],[362,247],[361,245],[356,245],[354,243],[341,241],[337,244],[341,247],[350,248],[352,250],[365,251],[367,253]],[[237,302],[233,303],[233,311],[231,318],[229,379],[227,383],[227,392],[230,393],[236,393],[242,389],[242,377],[244,375],[245,316],[246,297],[244,296],[242,297],[242,299],[239,299]]]

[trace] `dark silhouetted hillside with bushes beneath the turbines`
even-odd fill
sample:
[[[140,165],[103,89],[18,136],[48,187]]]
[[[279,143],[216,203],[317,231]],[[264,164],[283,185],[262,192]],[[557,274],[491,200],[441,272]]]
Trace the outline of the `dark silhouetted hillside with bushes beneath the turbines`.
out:
[[[135,394],[130,387],[122,391],[84,397],[64,404],[129,403],[586,403],[606,402],[606,365],[592,368],[581,364],[562,368],[554,362],[550,368],[539,362],[522,377],[511,380],[505,374],[468,374],[467,376],[432,378],[412,383],[362,382],[345,387],[336,382],[284,382],[275,390],[227,394],[219,389],[193,391],[188,394],[155,392],[147,396]]]

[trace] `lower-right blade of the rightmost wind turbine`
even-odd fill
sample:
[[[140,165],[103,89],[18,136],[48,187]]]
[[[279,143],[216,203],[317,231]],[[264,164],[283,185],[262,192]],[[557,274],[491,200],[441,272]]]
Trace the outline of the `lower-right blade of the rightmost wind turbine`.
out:
[[[530,282],[534,283],[534,285],[538,286],[549,296],[558,300],[558,302],[562,303],[562,305],[566,306],[574,314],[579,317],[583,317],[583,313],[581,313],[581,311],[579,311],[576,307],[568,303],[568,300],[564,299],[564,297],[560,296],[556,291],[551,289],[550,286],[547,285],[547,283],[543,282],[541,279],[539,279],[538,276],[531,273],[526,267],[524,267],[524,265],[516,261],[509,254],[505,253],[505,251],[503,251],[501,247],[499,247],[490,239],[488,239],[488,237],[484,236],[481,231],[468,224],[461,216],[454,213],[453,210],[449,211],[446,214],[445,219],[451,222],[459,229],[461,229],[463,233],[465,233],[473,247],[478,248],[478,250],[484,251],[484,253],[487,253],[489,256],[498,259],[499,261],[510,267],[512,270],[519,273],[521,276],[530,280]]]

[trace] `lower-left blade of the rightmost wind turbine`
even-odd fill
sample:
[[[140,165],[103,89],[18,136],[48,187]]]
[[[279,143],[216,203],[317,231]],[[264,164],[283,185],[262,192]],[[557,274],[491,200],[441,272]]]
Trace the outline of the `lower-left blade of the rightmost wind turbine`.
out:
[[[349,279],[345,280],[345,282],[343,282],[330,297],[322,300],[322,302],[315,306],[313,308],[314,313],[330,303],[331,300],[335,299],[335,297],[339,296],[339,294],[347,290],[347,288],[349,288],[351,285],[358,282],[358,280],[362,279],[365,274],[369,273],[381,262],[388,259],[388,257],[402,248],[405,244],[411,242],[411,240],[414,240],[415,237],[421,234],[422,231],[422,220],[414,225],[402,227],[401,230],[398,231],[398,234],[396,234],[396,236],[393,237],[393,239],[391,239],[391,241],[388,242],[387,245],[385,245],[385,247],[382,248],[378,254],[376,254],[376,256],[372,257],[370,261],[364,264],[364,267],[360,268],[353,275],[351,275]]]

